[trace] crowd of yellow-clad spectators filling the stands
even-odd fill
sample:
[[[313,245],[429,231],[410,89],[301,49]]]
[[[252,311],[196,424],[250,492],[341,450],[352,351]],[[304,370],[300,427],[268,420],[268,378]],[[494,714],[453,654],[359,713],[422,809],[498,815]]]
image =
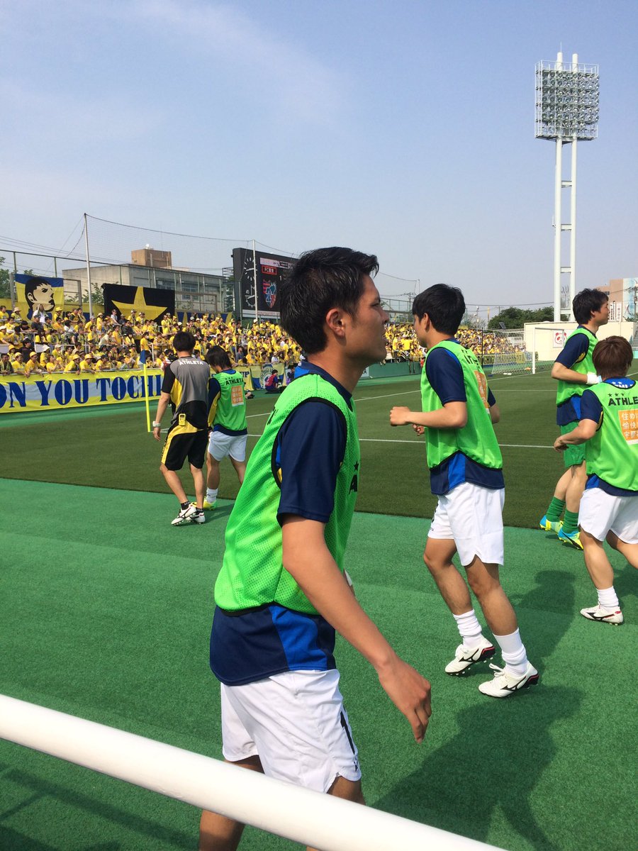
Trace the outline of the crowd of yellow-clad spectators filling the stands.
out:
[[[36,309],[30,318],[20,309],[0,305],[0,346],[7,347],[9,358],[2,358],[0,374],[104,372],[137,369],[140,355],[146,352],[150,367],[163,368],[174,357],[173,338],[179,330],[190,331],[196,349],[204,357],[208,347],[222,346],[236,364],[245,366],[299,363],[297,343],[268,319],[247,326],[231,317],[193,314],[180,320],[165,314],[151,321],[144,313],[131,311],[128,317],[117,311],[87,319],[80,308],[54,311]],[[476,355],[517,351],[510,341],[493,331],[459,328],[460,342]],[[388,323],[385,328],[385,361],[418,363],[424,355],[412,323]],[[9,365],[7,365],[9,364]]]

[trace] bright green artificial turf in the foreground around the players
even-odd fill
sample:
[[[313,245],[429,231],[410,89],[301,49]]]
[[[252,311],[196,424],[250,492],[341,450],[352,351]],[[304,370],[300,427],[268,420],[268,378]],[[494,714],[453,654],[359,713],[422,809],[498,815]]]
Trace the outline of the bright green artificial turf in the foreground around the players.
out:
[[[72,438],[64,445],[68,456]],[[0,692],[219,757],[208,631],[230,507],[173,528],[168,494],[0,480],[0,516],[12,519],[0,550]],[[426,530],[419,518],[357,513],[350,535],[362,605],[432,683],[430,728],[415,745],[373,670],[339,641],[367,802],[511,851],[635,848],[633,571],[612,554],[626,623],[593,624],[578,615],[595,600],[582,554],[507,528],[504,585],[541,683],[491,700],[476,688],[487,667],[443,673],[458,637],[421,562]],[[194,848],[197,818],[0,743],[0,848]],[[242,842],[293,847],[255,830]]]

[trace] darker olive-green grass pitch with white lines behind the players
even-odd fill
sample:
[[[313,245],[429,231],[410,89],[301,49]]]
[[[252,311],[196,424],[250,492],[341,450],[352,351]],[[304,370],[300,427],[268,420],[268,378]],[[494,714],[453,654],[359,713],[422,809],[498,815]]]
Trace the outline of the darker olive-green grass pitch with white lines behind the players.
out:
[[[547,374],[494,376],[490,386],[502,411],[496,433],[504,457],[504,523],[533,527],[564,471],[561,456],[552,449],[555,381]],[[436,500],[430,494],[423,438],[389,422],[393,405],[419,408],[419,376],[362,380],[354,397],[362,439],[357,511],[431,517]],[[274,401],[258,392],[248,403],[249,451]],[[136,403],[0,414],[0,447],[0,472],[7,478],[166,491],[157,469],[160,447],[146,431],[144,408]],[[192,483],[186,472],[184,482],[189,493]],[[236,492],[235,473],[225,461],[219,493],[234,499]]]

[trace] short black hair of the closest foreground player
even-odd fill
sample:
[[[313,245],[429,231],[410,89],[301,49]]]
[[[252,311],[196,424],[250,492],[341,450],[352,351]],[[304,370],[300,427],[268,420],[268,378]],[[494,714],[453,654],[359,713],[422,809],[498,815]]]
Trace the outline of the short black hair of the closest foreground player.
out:
[[[363,278],[379,271],[374,254],[352,248],[316,248],[299,257],[277,291],[280,324],[309,354],[323,351],[326,314],[334,307],[354,316]]]

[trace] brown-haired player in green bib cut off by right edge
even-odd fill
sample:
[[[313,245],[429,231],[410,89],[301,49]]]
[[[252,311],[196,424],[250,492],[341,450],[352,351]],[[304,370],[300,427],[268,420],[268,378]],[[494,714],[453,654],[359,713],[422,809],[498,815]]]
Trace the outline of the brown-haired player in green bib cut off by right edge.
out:
[[[638,568],[638,388],[626,377],[633,357],[624,337],[601,340],[593,361],[602,382],[584,391],[578,426],[554,443],[562,452],[579,445],[585,450],[587,483],[578,525],[598,604],[580,614],[614,625],[624,618],[603,541]]]

